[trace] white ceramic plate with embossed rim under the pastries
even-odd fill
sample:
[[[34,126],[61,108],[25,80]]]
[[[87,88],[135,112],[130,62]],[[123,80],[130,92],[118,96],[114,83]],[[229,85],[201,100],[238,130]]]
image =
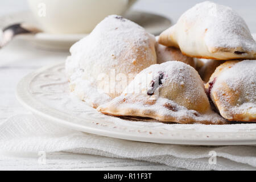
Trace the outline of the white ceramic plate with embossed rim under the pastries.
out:
[[[256,124],[180,125],[129,121],[98,113],[68,92],[64,64],[42,68],[18,84],[18,100],[38,118],[71,129],[142,142],[234,145],[256,144]]]

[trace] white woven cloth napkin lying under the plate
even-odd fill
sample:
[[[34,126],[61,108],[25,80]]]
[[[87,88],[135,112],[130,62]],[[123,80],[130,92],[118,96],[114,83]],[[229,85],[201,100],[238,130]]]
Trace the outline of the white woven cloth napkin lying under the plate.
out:
[[[0,151],[67,151],[192,170],[256,170],[255,146],[205,147],[134,142],[67,129],[32,114],[14,115],[0,125]],[[216,163],[214,154],[217,155]]]

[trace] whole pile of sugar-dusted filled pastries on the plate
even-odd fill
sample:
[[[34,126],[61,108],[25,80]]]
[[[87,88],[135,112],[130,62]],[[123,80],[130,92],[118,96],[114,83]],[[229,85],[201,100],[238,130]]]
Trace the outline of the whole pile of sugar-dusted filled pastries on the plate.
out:
[[[256,121],[255,59],[245,21],[203,2],[156,39],[108,16],[72,46],[66,70],[71,91],[101,113],[225,124]]]

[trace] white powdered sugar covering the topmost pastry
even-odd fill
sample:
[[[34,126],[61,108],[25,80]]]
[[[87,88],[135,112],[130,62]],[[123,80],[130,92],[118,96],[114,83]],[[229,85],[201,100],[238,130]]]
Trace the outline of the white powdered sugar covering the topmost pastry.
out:
[[[245,21],[230,7],[209,1],[199,3],[184,13],[187,23],[200,19],[201,31],[205,31],[208,47],[238,48],[255,51],[256,43]]]

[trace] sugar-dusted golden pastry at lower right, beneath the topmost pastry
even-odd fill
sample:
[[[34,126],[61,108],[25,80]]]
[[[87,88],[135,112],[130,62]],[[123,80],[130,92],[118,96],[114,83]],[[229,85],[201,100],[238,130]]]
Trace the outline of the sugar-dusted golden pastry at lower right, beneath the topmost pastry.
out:
[[[222,117],[256,121],[256,60],[221,64],[206,87]]]

